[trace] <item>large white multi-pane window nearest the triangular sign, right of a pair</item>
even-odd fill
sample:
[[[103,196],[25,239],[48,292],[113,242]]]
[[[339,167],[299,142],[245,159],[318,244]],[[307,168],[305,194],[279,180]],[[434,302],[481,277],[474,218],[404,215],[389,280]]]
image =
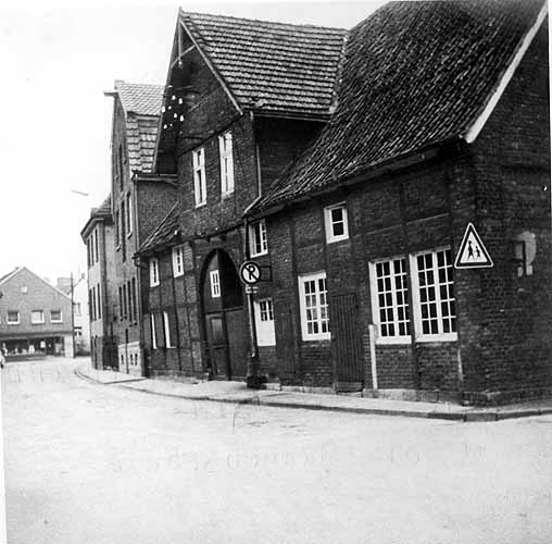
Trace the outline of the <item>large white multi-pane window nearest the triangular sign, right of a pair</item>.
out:
[[[450,248],[418,252],[410,259],[416,341],[455,341],[456,308]]]

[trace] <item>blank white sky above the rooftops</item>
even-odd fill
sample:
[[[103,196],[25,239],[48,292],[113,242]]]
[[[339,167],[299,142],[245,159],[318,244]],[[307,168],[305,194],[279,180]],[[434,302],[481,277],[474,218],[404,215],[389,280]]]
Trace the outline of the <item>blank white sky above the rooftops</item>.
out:
[[[185,2],[188,11],[350,28],[384,1]],[[0,275],[85,271],[80,239],[110,189],[114,79],[164,84],[178,4],[0,7]],[[80,196],[73,189],[88,193]]]

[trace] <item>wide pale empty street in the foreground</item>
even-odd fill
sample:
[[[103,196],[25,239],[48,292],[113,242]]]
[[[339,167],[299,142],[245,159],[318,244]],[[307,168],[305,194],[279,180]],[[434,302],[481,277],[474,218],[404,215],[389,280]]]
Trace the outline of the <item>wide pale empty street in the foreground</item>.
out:
[[[10,544],[549,544],[552,417],[193,401],[10,363]]]

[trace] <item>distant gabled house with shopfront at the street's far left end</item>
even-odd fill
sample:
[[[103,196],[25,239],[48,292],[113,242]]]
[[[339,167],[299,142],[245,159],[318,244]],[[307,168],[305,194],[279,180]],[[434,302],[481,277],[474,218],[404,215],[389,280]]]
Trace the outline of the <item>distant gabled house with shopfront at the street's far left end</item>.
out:
[[[71,297],[25,267],[0,277],[0,344],[9,356],[73,357]]]

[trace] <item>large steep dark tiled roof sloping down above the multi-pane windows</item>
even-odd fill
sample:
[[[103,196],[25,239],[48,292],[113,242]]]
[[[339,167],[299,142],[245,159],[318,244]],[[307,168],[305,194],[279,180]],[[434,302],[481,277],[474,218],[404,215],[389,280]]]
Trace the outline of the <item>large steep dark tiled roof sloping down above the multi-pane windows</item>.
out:
[[[331,120],[255,209],[464,135],[542,4],[401,1],[376,11],[350,33]]]

